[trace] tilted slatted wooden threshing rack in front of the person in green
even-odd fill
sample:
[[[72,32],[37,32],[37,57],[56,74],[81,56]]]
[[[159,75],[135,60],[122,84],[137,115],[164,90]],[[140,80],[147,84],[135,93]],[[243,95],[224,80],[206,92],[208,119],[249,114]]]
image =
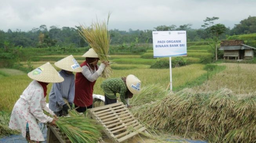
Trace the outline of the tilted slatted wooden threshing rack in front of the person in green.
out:
[[[88,113],[104,127],[103,131],[114,143],[122,143],[138,132],[147,132],[123,102],[88,109]]]

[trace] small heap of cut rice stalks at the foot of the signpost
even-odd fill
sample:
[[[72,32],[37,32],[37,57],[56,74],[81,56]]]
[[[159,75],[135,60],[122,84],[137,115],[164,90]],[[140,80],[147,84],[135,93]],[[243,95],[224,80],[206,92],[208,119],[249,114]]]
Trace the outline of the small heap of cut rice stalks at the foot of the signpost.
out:
[[[144,105],[146,103],[162,100],[168,93],[169,92],[162,88],[160,84],[151,84],[143,87],[138,95],[131,98],[130,102],[133,106]]]

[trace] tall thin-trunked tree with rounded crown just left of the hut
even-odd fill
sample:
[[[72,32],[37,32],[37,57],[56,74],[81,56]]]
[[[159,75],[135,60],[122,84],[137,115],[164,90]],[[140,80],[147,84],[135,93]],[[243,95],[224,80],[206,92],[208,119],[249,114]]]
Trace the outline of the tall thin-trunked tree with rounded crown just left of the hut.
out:
[[[225,27],[225,25],[223,25],[223,24],[216,24],[216,25],[212,25],[211,26],[211,31],[212,31],[212,34],[214,34],[215,35],[215,60],[217,61],[217,59],[218,59],[218,56],[217,56],[217,54],[218,54],[218,37],[221,35],[221,34],[223,34],[225,31],[226,31],[226,27]]]

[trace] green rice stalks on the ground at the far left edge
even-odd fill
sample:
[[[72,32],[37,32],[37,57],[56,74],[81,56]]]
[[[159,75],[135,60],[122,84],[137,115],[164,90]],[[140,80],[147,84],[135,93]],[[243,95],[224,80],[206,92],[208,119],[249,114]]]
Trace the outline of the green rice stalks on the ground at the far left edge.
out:
[[[0,111],[0,138],[10,134],[20,134],[18,130],[9,128],[10,114]]]

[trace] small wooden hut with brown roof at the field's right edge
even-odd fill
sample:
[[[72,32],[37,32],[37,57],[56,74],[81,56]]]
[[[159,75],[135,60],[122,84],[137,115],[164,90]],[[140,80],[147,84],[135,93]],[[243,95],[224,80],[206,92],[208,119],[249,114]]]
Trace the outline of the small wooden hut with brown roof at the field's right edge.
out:
[[[243,40],[221,41],[219,50],[224,50],[224,59],[252,59],[256,48],[244,44]]]

